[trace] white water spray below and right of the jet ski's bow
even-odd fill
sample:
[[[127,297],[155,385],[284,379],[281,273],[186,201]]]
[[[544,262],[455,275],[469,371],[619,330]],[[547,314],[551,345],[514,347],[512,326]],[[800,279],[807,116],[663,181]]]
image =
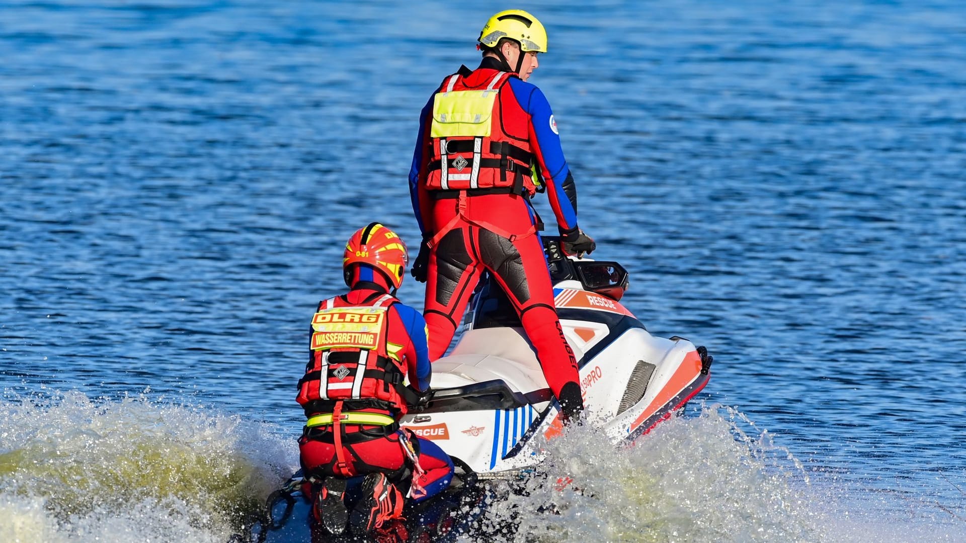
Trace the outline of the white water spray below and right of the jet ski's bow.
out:
[[[586,426],[543,443],[547,476],[524,482],[526,497],[493,500],[485,526],[517,523],[514,541],[541,542],[966,540],[966,523],[864,515],[732,408],[703,406],[617,450],[602,443]]]

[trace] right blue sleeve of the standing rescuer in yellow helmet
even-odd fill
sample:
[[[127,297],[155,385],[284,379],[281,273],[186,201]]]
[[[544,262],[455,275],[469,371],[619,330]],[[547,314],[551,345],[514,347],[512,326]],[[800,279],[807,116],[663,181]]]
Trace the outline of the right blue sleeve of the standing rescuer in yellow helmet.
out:
[[[509,84],[520,106],[530,115],[530,146],[543,173],[557,224],[561,229],[569,230],[577,226],[576,190],[571,186],[575,200],[572,201],[565,190],[565,184],[572,185],[573,176],[570,174],[567,159],[563,157],[560,135],[557,133],[550,102],[540,89],[526,81],[511,77]]]

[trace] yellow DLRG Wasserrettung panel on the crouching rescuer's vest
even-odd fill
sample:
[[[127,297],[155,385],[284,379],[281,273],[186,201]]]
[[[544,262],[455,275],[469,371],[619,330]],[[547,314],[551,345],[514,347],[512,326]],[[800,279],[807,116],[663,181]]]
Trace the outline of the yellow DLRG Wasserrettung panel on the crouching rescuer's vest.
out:
[[[385,307],[333,307],[312,317],[312,349],[377,349]]]

